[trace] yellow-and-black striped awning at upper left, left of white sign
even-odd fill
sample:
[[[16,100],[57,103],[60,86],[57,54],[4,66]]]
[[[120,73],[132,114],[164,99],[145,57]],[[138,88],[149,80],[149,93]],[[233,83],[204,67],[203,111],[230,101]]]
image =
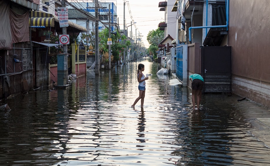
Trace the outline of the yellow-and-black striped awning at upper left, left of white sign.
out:
[[[54,16],[49,13],[39,11],[31,11],[31,19],[29,20],[31,27],[54,27]]]

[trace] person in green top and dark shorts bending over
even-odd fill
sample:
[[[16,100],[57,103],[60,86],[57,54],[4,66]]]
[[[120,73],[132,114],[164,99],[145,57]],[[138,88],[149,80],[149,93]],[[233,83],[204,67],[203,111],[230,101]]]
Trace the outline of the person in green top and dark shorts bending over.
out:
[[[195,110],[195,99],[197,96],[197,109],[200,107],[201,101],[201,90],[203,89],[204,85],[204,78],[202,78],[199,74],[192,74],[189,76],[189,80],[192,81],[191,89],[192,89],[192,105],[193,109]]]

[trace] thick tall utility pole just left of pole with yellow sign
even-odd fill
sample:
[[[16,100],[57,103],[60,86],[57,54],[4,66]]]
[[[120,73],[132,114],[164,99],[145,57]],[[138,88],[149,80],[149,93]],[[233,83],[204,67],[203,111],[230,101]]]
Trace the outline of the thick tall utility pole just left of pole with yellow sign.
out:
[[[63,0],[62,0],[63,1]],[[95,17],[96,17],[96,23],[95,23],[95,55],[96,55],[96,70],[95,74],[99,75],[99,1],[95,0]]]

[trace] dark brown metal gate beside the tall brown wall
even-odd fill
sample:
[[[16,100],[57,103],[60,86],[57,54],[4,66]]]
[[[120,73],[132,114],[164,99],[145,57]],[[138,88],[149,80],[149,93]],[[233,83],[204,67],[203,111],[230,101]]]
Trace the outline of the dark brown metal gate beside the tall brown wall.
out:
[[[201,47],[204,92],[231,92],[231,47]]]

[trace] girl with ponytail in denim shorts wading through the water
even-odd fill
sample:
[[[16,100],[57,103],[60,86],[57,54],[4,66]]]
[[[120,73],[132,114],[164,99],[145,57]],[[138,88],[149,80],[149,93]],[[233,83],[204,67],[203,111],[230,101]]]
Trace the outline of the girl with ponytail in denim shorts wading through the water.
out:
[[[145,96],[145,80],[148,80],[148,77],[145,77],[142,73],[144,71],[144,64],[138,65],[138,71],[137,71],[137,78],[139,82],[139,97],[136,98],[133,105],[131,105],[132,108],[135,107],[135,104],[141,99],[141,108],[144,107],[144,96]]]

